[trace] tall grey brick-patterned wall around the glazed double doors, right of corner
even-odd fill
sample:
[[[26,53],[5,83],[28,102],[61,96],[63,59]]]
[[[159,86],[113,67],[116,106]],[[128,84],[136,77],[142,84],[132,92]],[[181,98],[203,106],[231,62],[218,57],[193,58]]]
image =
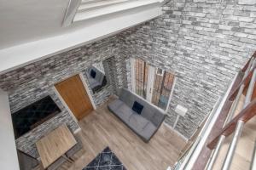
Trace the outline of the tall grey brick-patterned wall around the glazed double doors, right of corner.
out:
[[[176,130],[190,138],[256,49],[256,1],[171,0],[163,12],[119,35],[122,52],[176,75],[166,122],[173,126],[176,105],[187,107]]]

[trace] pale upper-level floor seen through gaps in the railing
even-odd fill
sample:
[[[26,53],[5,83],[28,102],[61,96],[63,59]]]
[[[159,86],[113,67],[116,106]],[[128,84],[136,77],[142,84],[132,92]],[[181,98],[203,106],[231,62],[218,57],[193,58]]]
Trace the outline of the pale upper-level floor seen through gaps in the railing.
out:
[[[239,105],[236,109],[235,116],[241,111],[242,105],[244,103],[245,96],[241,96]],[[233,135],[224,140],[224,144],[218,154],[218,159],[214,164],[214,170],[221,169],[224,157],[226,156],[227,150],[229,149],[230,142]],[[250,121],[248,121],[243,128],[241,133],[241,138],[236,146],[236,152],[231,163],[230,169],[232,170],[249,170],[250,164],[253,157],[253,148],[256,139],[256,117],[254,116]]]

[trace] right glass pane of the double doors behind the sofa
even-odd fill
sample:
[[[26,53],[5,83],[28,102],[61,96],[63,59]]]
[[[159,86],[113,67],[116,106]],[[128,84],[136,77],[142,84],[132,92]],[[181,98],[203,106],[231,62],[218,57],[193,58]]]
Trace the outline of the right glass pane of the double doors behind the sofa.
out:
[[[172,73],[164,71],[161,75],[159,74],[159,69],[156,69],[154,74],[152,103],[163,110],[166,110],[168,105],[168,100],[172,92],[173,80],[174,75],[172,75]]]

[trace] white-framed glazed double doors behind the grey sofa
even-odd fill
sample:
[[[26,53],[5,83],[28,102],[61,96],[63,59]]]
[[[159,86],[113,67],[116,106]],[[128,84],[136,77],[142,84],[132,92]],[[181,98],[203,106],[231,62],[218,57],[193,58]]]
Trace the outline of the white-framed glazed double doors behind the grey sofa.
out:
[[[131,59],[131,74],[132,90],[166,111],[172,96],[174,75],[148,65],[142,59]]]

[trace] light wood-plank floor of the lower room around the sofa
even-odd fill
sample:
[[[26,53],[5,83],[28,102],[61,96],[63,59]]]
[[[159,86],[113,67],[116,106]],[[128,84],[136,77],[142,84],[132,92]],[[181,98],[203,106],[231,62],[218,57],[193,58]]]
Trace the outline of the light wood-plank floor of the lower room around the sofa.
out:
[[[73,164],[65,163],[60,169],[81,170],[107,146],[128,170],[166,170],[177,161],[186,144],[177,133],[162,124],[146,144],[108,111],[107,104],[79,122],[82,131],[78,135],[84,148],[74,156]]]

